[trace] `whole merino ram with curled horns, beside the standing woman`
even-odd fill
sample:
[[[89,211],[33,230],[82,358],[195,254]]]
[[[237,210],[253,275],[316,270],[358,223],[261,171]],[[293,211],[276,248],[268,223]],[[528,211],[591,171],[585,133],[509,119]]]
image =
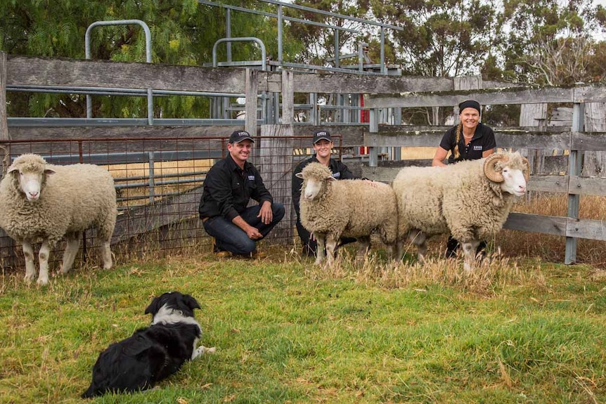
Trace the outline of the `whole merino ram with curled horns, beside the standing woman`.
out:
[[[516,196],[524,195],[528,160],[519,153],[496,153],[446,167],[406,167],[394,180],[398,199],[398,252],[406,237],[423,259],[425,241],[451,233],[463,245],[470,271],[481,240],[488,240],[507,220]]]

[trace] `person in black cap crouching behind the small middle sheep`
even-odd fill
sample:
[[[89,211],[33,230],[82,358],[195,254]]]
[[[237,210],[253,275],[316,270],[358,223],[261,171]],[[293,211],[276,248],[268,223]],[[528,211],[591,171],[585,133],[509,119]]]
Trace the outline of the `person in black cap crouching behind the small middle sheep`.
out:
[[[303,180],[298,178],[296,174],[303,171],[307,164],[311,162],[320,162],[330,169],[330,171],[333,173],[333,178],[336,180],[351,180],[357,178],[340,160],[330,158],[335,143],[333,143],[333,137],[330,136],[328,131],[316,131],[316,133],[314,133],[314,139],[312,142],[316,154],[308,159],[304,159],[297,165],[295,171],[292,172],[292,205],[295,207],[295,213],[297,214],[297,233],[299,233],[299,238],[301,239],[301,243],[303,245],[303,255],[307,256],[316,255],[317,242],[313,237],[311,237],[309,231],[307,231],[307,229],[304,228],[301,223],[299,201],[301,200],[301,187],[303,185]],[[355,241],[356,239],[353,237],[341,237],[341,240],[339,240],[339,245],[344,245]]]

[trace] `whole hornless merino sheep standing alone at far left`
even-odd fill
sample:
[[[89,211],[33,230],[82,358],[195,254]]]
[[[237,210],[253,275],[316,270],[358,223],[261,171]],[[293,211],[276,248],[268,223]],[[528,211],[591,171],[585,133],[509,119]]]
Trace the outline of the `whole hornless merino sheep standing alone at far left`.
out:
[[[74,263],[82,231],[98,230],[103,268],[112,266],[110,239],[117,216],[112,176],[93,164],[55,166],[39,155],[20,155],[0,182],[0,227],[20,242],[25,254],[25,280],[34,280],[32,243],[42,242],[39,285],[49,283],[49,253],[65,235],[62,272]]]

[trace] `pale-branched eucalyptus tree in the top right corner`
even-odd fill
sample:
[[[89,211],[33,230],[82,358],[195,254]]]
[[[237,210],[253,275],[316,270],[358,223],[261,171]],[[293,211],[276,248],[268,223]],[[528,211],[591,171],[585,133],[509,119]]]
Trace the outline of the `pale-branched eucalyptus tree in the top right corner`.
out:
[[[520,82],[562,85],[604,73],[595,33],[606,13],[591,0],[505,0],[504,69]]]

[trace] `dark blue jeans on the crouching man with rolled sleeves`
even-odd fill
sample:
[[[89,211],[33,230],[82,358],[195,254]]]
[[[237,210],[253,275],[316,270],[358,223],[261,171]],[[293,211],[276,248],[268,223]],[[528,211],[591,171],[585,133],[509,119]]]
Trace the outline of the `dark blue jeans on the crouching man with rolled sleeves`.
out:
[[[247,207],[240,216],[250,226],[257,228],[259,233],[263,235],[262,238],[264,238],[284,217],[284,205],[278,202],[271,204],[273,221],[269,224],[263,223],[261,216],[257,217],[260,210],[261,205],[257,204]],[[223,216],[214,216],[207,219],[203,224],[206,233],[214,237],[215,245],[219,251],[228,251],[232,254],[250,254],[257,247],[256,242],[260,240],[250,240],[244,230]]]

